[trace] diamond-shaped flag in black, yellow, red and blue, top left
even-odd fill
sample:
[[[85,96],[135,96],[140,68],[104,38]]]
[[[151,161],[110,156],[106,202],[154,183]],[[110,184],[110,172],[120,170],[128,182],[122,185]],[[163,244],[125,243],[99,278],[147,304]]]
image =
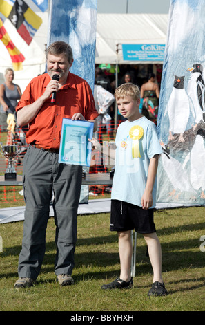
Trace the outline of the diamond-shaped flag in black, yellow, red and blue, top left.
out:
[[[28,45],[42,24],[41,17],[36,15],[23,0],[15,1],[8,19],[17,28],[17,32]]]

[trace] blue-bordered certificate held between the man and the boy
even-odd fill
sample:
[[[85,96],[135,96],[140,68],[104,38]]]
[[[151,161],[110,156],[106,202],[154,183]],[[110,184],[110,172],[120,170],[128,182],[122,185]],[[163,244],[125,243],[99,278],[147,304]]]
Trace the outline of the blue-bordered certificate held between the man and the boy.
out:
[[[59,163],[90,166],[94,122],[63,118]]]

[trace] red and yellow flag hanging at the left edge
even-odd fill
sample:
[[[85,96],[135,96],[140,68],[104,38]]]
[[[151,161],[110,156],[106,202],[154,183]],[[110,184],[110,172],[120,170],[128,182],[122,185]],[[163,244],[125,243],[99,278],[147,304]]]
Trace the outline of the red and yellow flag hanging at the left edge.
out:
[[[18,71],[22,69],[22,62],[25,60],[23,54],[14,46],[13,42],[11,41],[8,32],[6,32],[5,27],[3,26],[3,21],[0,19],[0,39],[3,44],[6,46],[8,53],[12,59],[12,66],[14,71]]]

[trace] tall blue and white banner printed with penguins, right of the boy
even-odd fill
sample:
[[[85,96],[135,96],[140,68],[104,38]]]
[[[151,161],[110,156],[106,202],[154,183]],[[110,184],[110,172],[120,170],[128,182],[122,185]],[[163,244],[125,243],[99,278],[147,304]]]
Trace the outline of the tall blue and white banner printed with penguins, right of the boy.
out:
[[[205,204],[205,2],[171,0],[157,132],[160,203]]]

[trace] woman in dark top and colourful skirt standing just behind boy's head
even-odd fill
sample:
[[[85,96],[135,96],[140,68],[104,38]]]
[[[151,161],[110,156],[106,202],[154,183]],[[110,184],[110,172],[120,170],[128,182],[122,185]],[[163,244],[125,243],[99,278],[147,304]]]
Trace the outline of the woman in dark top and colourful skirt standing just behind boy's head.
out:
[[[157,122],[158,106],[159,106],[159,86],[155,83],[155,74],[148,75],[148,82],[142,84],[140,97],[143,99],[142,114]]]

